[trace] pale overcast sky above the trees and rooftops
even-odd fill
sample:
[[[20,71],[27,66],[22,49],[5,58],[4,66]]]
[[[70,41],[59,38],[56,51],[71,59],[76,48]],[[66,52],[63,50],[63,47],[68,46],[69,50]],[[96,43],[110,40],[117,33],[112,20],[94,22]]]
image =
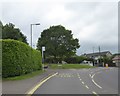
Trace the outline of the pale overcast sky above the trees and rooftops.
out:
[[[114,1],[114,0],[110,0]],[[13,23],[30,42],[30,24],[33,26],[33,45],[41,32],[53,25],[63,25],[79,39],[77,54],[101,51],[118,52],[118,3],[117,2],[2,2],[3,24]]]

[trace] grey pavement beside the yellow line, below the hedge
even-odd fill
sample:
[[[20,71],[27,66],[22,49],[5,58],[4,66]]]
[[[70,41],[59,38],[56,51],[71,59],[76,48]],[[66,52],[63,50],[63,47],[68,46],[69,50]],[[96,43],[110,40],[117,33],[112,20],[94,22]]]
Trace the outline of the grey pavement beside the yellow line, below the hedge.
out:
[[[41,75],[29,79],[16,81],[2,81],[2,94],[26,94],[31,88],[49,75],[54,74],[56,70],[48,69]]]

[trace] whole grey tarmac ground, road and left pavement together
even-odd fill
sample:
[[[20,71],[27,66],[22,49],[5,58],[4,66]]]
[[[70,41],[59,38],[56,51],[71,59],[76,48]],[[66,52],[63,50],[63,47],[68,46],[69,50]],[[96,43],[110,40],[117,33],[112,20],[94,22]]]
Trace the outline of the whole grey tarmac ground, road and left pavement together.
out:
[[[57,74],[55,74],[56,72]],[[116,96],[114,94],[118,94],[118,68],[48,69],[42,75],[30,79],[2,82],[3,94],[25,94],[28,92],[53,95],[109,94],[110,96],[113,94]]]

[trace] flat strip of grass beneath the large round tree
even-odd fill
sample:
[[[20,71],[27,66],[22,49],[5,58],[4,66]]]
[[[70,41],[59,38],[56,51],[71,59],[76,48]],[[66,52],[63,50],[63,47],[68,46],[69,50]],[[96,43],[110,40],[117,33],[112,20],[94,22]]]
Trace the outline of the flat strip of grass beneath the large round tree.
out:
[[[82,68],[95,68],[94,66],[84,64],[51,64],[51,69],[82,69]]]

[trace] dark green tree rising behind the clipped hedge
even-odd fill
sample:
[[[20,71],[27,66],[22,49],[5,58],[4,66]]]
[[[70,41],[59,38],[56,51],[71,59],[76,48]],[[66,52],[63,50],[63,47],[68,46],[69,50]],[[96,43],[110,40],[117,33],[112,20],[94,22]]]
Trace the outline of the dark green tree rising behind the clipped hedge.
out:
[[[2,39],[14,39],[28,44],[26,36],[20,32],[19,28],[15,28],[12,23],[2,26]]]

